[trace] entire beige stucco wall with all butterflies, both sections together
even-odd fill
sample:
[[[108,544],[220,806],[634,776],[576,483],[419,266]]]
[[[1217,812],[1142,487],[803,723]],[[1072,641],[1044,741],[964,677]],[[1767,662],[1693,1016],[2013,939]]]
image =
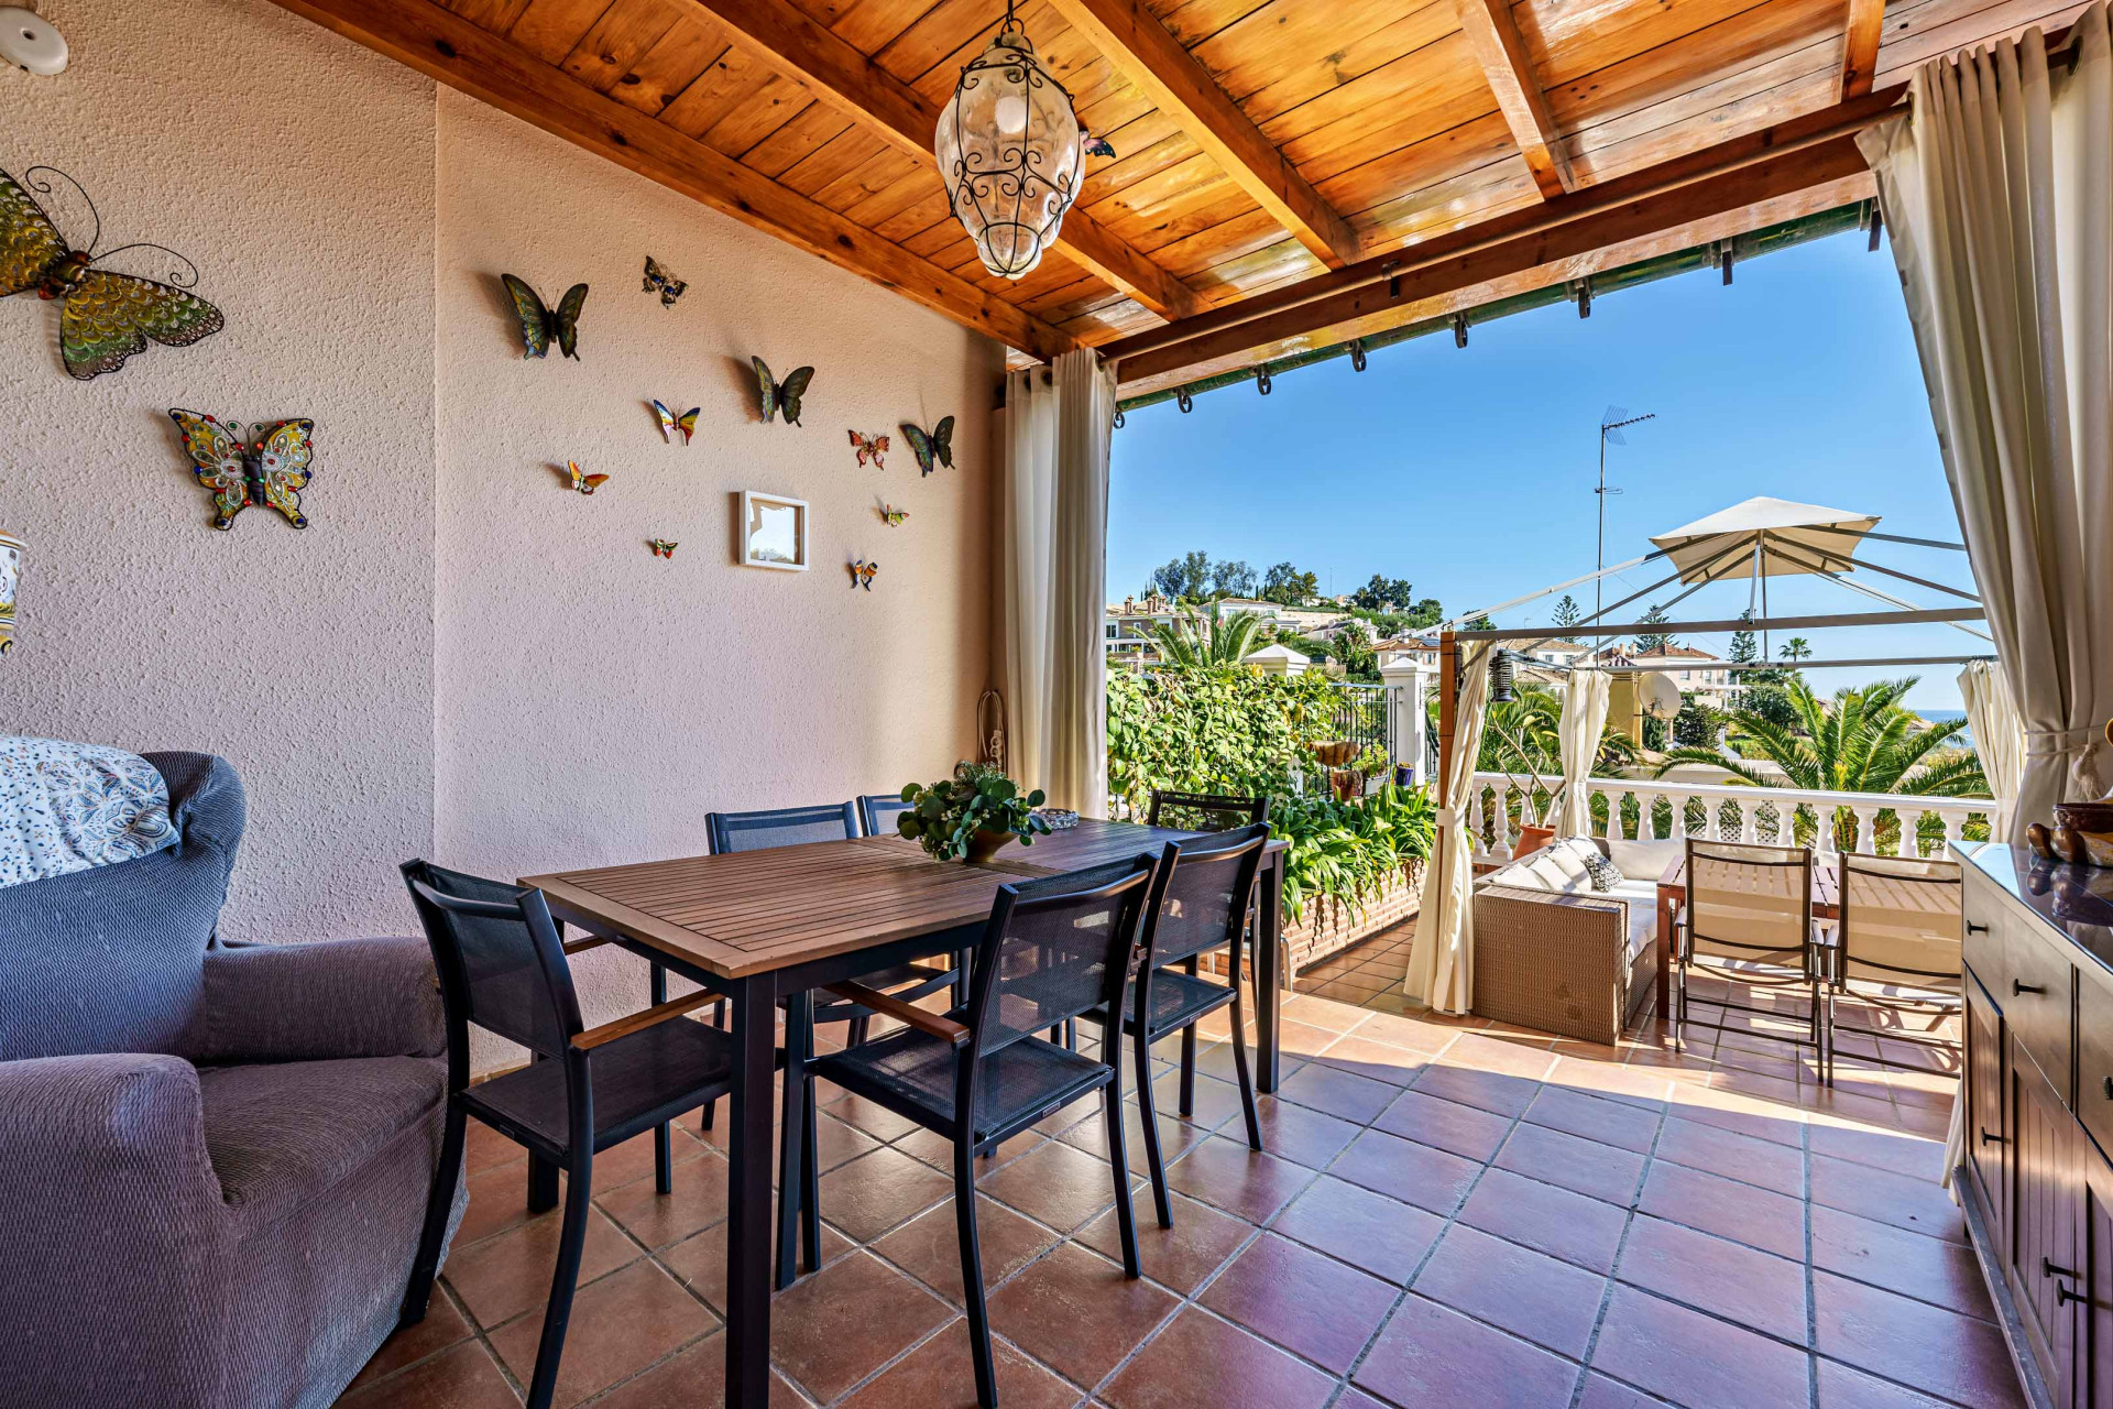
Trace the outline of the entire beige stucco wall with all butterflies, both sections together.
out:
[[[995,344],[264,0],[44,13],[76,61],[0,72],[0,167],[63,165],[114,239],[190,253],[228,330],[76,384],[53,308],[0,302],[0,532],[30,543],[0,729],[226,754],[230,936],[404,932],[406,856],[693,853],[714,807],[972,750]],[[647,253],[691,283],[672,311]],[[503,270],[592,285],[581,361],[522,359]],[[752,353],[816,365],[803,427],[756,420]],[[653,397],[704,408],[691,446]],[[313,526],[213,532],[169,406],[315,416]],[[919,477],[896,422],[945,414],[957,469]],[[847,427],[896,439],[885,473]],[[566,458],[613,480],[566,492]],[[814,570],[735,566],[744,488],[814,505]],[[583,967],[590,1020],[642,995],[628,963]]]

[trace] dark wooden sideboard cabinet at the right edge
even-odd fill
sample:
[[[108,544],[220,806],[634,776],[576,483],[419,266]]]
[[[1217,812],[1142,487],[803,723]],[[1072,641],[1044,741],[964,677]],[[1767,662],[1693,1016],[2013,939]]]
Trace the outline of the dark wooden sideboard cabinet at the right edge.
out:
[[[2113,1409],[2113,870],[1959,856],[1967,1223],[2026,1396]]]

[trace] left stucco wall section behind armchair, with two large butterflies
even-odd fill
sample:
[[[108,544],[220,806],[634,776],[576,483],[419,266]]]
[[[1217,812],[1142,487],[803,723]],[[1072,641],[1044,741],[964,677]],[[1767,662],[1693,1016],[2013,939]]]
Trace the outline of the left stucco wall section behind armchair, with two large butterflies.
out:
[[[57,306],[0,300],[0,530],[30,545],[0,731],[230,758],[230,938],[401,932],[391,868],[433,837],[433,84],[264,0],[38,8],[74,65],[0,68],[0,167],[78,177],[106,247],[197,260],[226,330],[76,382]],[[171,406],[313,416],[311,528],[213,532]]]

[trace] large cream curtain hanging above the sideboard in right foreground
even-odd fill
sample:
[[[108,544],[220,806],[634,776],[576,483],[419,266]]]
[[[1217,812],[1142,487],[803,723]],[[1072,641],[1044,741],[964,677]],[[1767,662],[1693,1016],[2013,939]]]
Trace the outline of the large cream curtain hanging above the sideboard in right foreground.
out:
[[[2009,830],[2113,782],[2113,46],[2075,21],[1925,63],[1878,175],[1974,579],[2024,725]],[[1976,741],[1980,725],[1976,720]],[[1986,756],[1986,754],[1984,754]],[[1990,782],[1995,782],[1990,777]]]

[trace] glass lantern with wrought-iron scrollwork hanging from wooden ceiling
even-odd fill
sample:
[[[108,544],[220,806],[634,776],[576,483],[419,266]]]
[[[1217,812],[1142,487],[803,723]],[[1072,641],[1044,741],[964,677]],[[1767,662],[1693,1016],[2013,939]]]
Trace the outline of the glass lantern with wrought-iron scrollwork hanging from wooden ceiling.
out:
[[[961,70],[934,137],[953,218],[976,243],[983,266],[1018,279],[1056,243],[1078,199],[1086,133],[1071,95],[1056,82],[1006,0],[1006,23]]]

